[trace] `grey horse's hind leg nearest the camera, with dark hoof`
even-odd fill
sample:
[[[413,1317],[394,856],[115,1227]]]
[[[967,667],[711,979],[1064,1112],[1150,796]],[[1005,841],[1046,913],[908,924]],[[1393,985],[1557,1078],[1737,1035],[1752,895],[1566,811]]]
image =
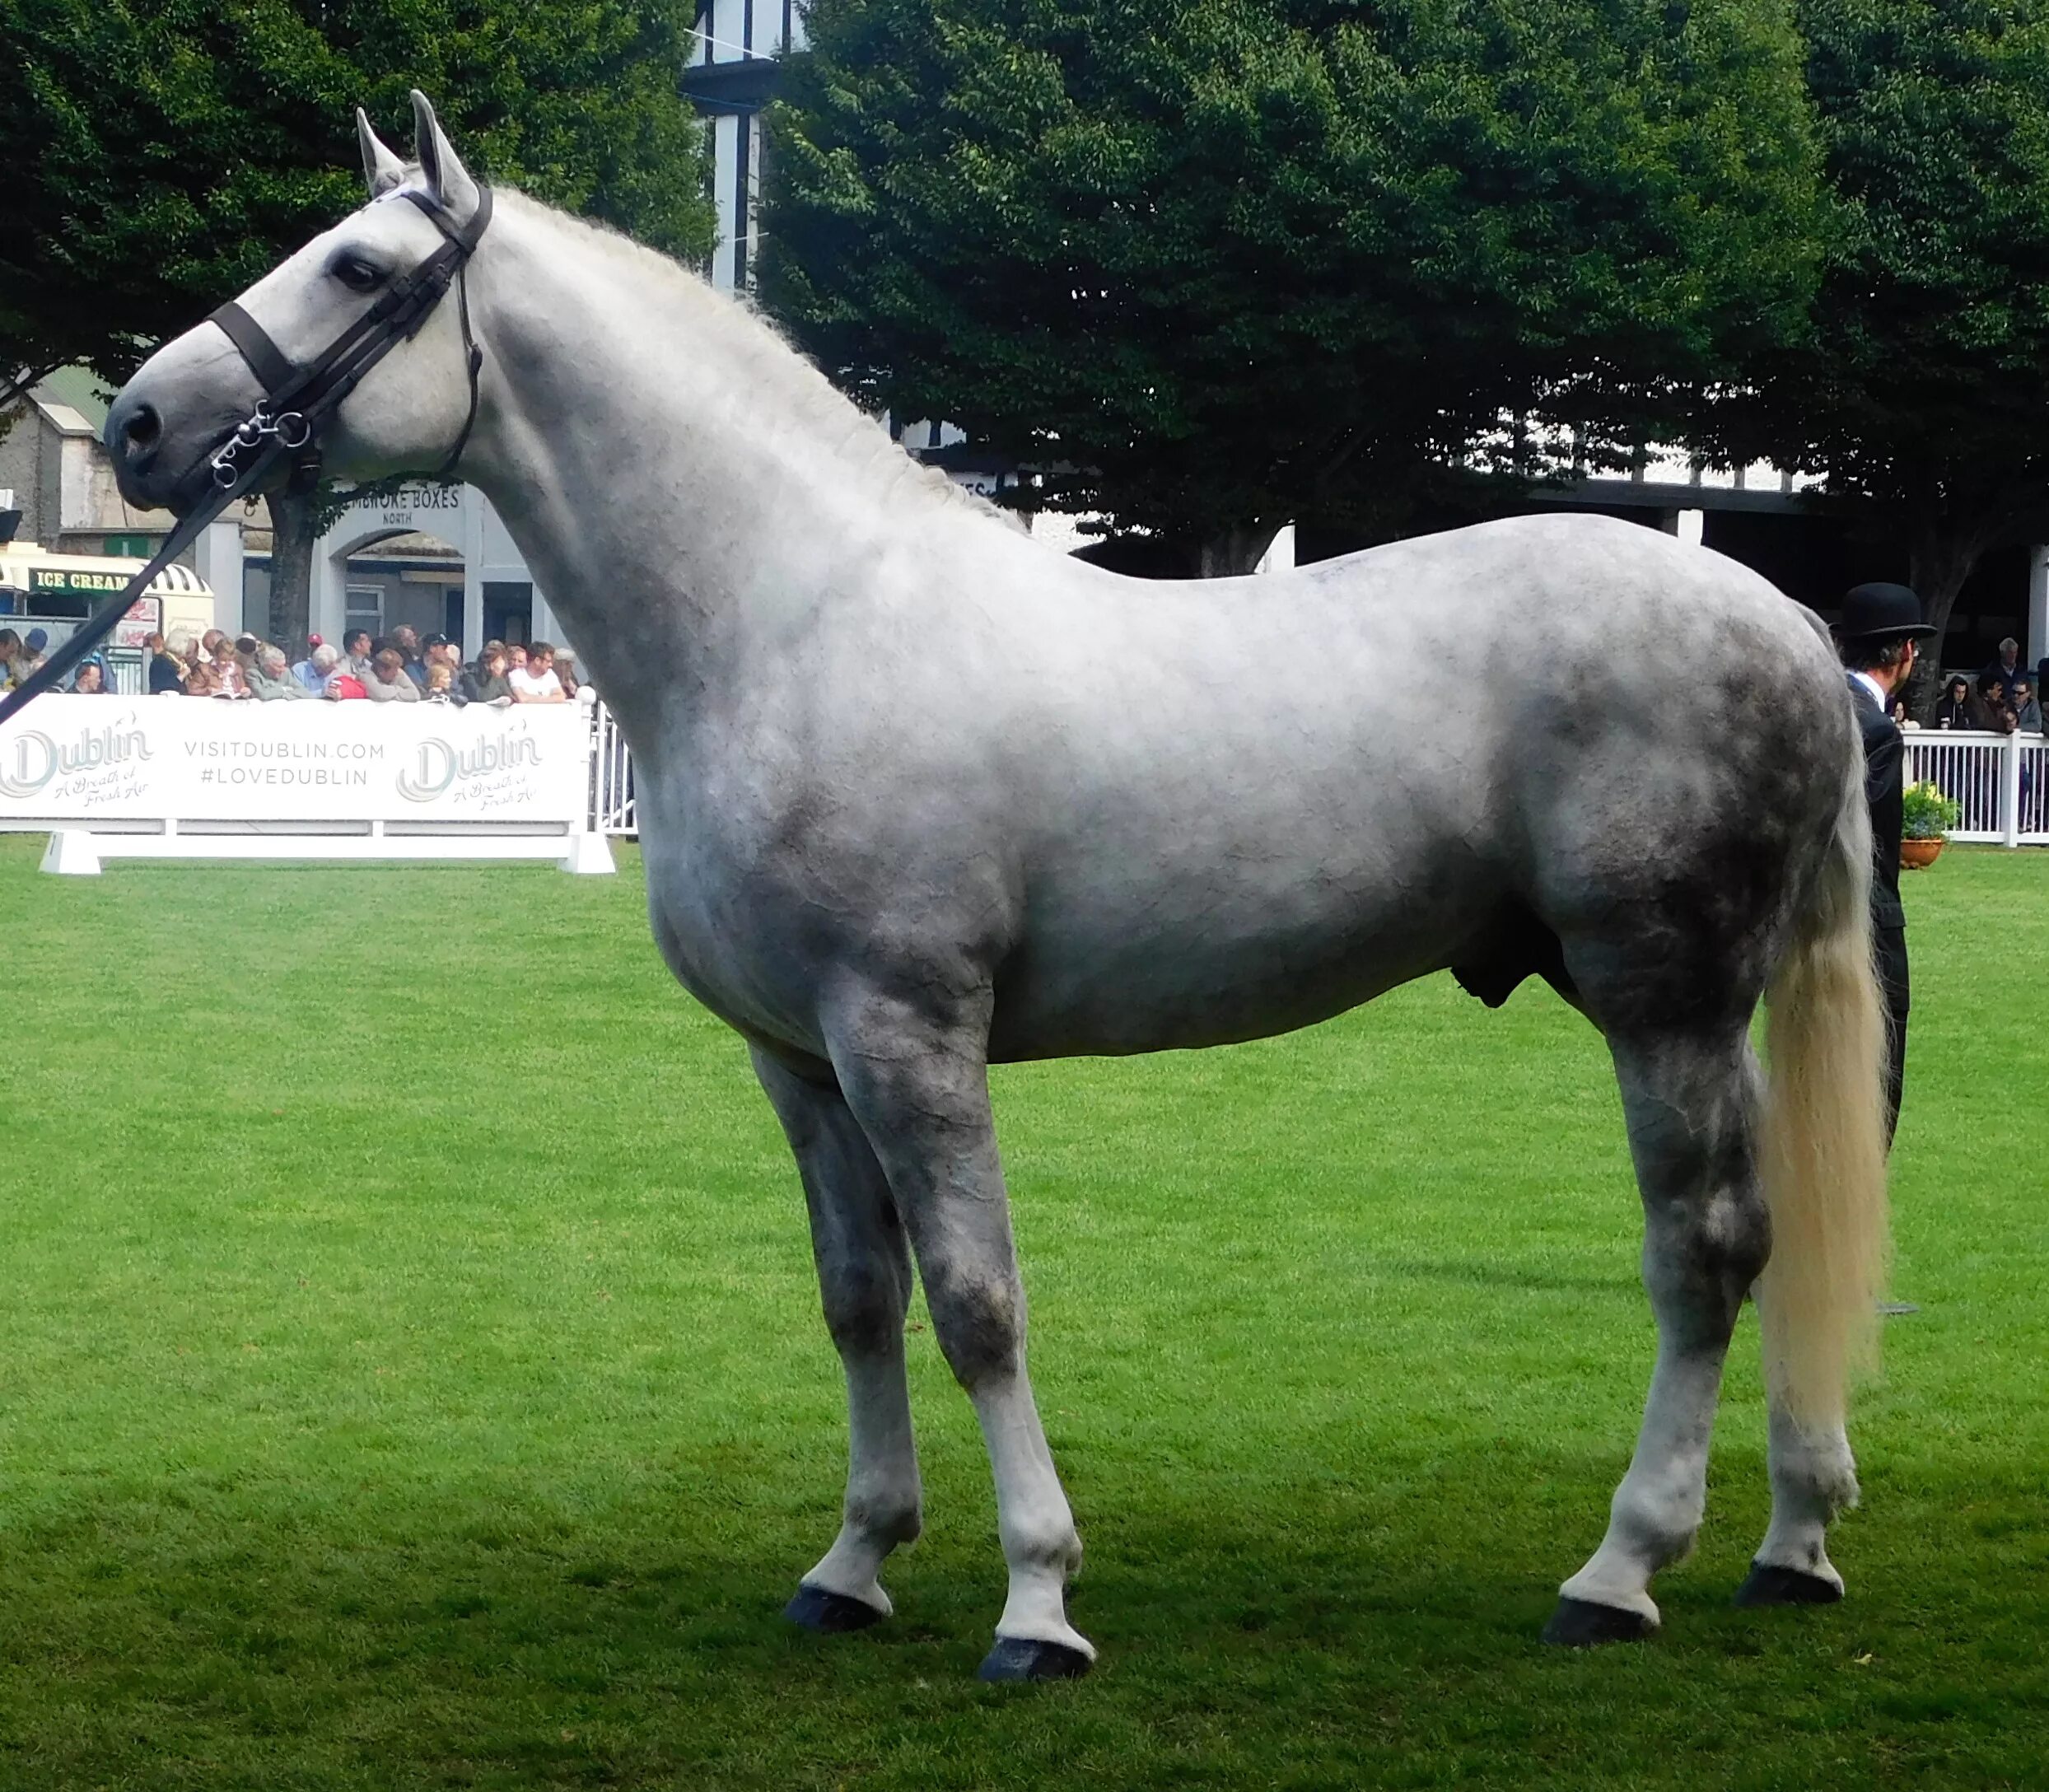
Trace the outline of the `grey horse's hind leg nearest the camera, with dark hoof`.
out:
[[[1742,1024],[1611,1036],[1643,1192],[1643,1286],[1658,1368],[1608,1534],[1559,1589],[1551,1642],[1615,1642],[1658,1628],[1649,1581],[1692,1548],[1729,1333],[1770,1223],[1758,1188],[1760,1079]]]

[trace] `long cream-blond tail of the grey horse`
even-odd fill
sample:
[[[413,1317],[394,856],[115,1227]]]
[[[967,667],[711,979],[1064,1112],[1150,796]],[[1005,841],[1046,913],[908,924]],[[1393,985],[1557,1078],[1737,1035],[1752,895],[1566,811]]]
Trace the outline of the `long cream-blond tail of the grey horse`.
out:
[[[1772,1253],[1758,1278],[1764,1374],[1807,1436],[1838,1430],[1875,1368],[1885,1288],[1885,1016],[1871,963],[1871,813],[1854,731],[1809,907],[1766,989],[1760,1171]]]

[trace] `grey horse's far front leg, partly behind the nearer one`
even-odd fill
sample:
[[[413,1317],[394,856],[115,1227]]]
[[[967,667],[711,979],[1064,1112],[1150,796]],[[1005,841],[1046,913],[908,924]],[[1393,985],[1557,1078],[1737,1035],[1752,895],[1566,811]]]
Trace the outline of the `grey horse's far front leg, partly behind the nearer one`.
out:
[[[846,1370],[844,1520],[787,1616],[811,1630],[861,1630],[889,1616],[881,1565],[920,1526],[904,1380],[910,1249],[881,1163],[838,1087],[807,1081],[760,1049],[754,1073],[797,1153],[826,1327]]]

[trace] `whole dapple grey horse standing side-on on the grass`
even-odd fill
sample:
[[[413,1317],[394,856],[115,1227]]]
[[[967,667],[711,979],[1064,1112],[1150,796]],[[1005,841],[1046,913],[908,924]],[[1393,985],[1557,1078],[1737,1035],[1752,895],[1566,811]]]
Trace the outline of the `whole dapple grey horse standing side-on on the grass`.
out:
[[[430,254],[430,209],[475,213],[414,104],[416,164],[363,123],[371,203],[242,297],[285,354]],[[389,203],[408,186],[426,209]],[[1742,1597],[1840,1597],[1824,1528],[1856,1489],[1883,1034],[1858,737],[1811,614],[1592,516],[1141,584],[916,467],[746,305],[623,238],[506,193],[463,301],[475,393],[443,303],[340,408],[328,467],[461,444],[631,739],[654,936],[752,1049],[846,1368],[844,1524],[793,1618],[887,1616],[879,1571],[918,1536],[916,1264],[996,1479],[1010,1593],[984,1673],[1094,1657],[990,1061],[1256,1038],[1442,969],[1490,1001],[1541,975],[1600,1028],[1643,1194],[1649,1401],[1547,1634],[1658,1624],[1752,1284],[1772,1520]],[[166,344],[107,420],[129,500],[174,502],[256,395],[211,324]],[[1477,700],[1422,694],[1447,676]]]

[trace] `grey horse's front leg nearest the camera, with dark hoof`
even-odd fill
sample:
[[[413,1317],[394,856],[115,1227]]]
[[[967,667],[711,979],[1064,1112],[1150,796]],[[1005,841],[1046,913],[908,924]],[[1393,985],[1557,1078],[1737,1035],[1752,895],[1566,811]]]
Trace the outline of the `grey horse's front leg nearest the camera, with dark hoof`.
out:
[[[984,1679],[1063,1679],[1096,1657],[1070,1622],[1082,1540],[1024,1372],[1024,1284],[990,1114],[986,1016],[865,999],[832,1028],[846,1102],[875,1147],[918,1253],[947,1364],[975,1405],[996,1477],[1010,1595]]]

